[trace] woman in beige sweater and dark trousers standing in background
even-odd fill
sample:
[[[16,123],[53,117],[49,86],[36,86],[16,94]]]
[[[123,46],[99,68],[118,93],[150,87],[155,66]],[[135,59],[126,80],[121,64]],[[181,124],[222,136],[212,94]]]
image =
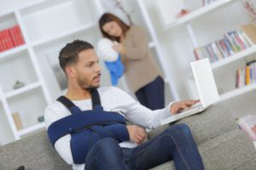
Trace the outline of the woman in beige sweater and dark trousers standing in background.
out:
[[[119,42],[113,49],[121,54],[128,86],[139,102],[151,110],[164,108],[165,84],[148,48],[146,33],[109,13],[102,15],[99,25],[103,37]]]

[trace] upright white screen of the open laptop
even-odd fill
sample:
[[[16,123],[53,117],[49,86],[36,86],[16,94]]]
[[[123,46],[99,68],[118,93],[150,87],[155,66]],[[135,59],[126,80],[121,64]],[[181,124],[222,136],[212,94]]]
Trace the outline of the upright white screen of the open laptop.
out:
[[[209,59],[191,62],[196,88],[201,99],[201,105],[207,107],[219,100],[218,90],[212,74]]]

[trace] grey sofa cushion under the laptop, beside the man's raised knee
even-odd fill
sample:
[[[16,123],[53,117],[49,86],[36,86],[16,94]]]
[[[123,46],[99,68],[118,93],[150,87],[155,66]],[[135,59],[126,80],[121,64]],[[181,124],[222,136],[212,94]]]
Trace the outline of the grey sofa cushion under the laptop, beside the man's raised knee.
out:
[[[221,104],[214,105],[207,111],[186,117],[174,123],[180,122],[183,122],[190,127],[196,144],[205,143],[207,140],[213,139],[220,134],[238,128],[236,122],[230,115],[230,111]],[[152,130],[148,133],[148,139],[154,138],[154,136],[161,133],[168,126],[170,125],[166,124]]]

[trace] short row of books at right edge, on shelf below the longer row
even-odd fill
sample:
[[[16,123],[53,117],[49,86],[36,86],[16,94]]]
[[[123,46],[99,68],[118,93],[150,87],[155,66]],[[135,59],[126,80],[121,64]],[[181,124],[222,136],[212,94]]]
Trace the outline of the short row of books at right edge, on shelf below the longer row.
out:
[[[236,88],[256,82],[256,61],[247,63],[245,68],[236,70]]]

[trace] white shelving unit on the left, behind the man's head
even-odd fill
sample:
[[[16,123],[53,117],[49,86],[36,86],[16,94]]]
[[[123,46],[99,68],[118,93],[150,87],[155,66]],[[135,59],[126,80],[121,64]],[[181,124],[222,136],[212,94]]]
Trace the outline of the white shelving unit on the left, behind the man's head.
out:
[[[8,2],[3,4],[10,7]],[[57,59],[61,48],[74,39],[96,45],[99,4],[98,0],[26,0],[0,13],[0,30],[19,25],[25,40],[24,45],[0,53],[1,144],[44,129],[38,117],[65,91],[47,57]],[[16,80],[25,86],[13,89]],[[104,82],[110,84],[108,77]],[[23,126],[20,130],[13,119],[16,112]]]

